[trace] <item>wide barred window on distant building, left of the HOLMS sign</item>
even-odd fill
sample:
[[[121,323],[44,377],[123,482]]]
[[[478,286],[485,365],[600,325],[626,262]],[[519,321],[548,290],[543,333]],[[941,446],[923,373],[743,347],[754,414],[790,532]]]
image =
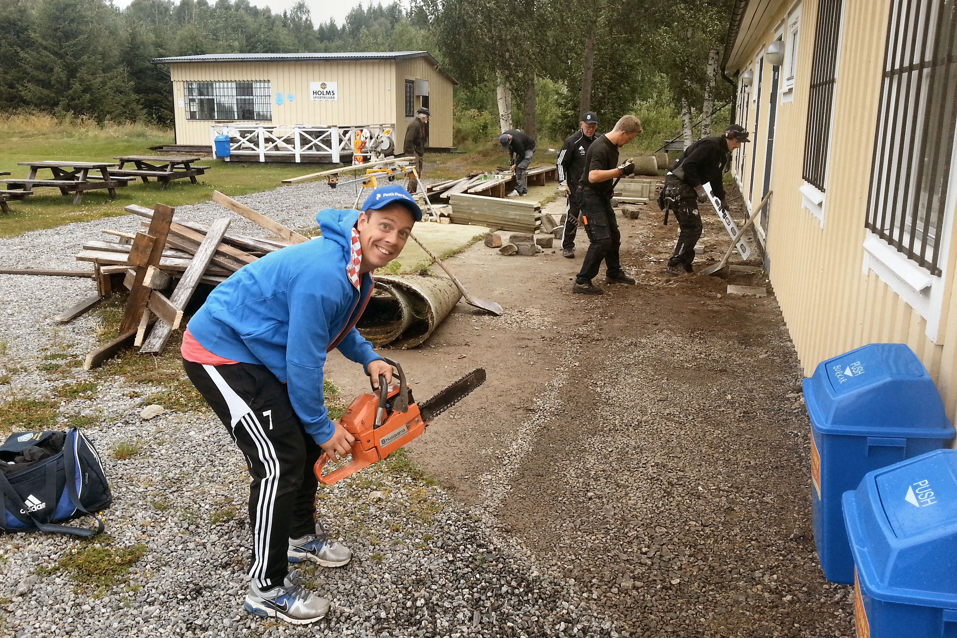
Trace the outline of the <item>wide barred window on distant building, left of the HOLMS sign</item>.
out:
[[[187,120],[273,121],[268,81],[186,82]]]

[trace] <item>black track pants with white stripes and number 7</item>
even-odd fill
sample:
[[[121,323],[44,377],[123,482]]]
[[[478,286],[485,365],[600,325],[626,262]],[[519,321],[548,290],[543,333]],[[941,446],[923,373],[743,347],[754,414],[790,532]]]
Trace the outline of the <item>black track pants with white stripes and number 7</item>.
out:
[[[249,575],[260,589],[281,585],[289,539],[316,532],[313,465],[323,450],[302,427],[286,386],[264,365],[183,367],[246,457],[253,557]]]

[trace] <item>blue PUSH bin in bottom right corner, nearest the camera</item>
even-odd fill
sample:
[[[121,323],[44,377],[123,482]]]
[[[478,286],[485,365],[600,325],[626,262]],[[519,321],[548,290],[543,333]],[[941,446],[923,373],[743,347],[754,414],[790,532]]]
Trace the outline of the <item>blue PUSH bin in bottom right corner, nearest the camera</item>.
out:
[[[957,450],[867,473],[843,496],[858,636],[957,636]]]

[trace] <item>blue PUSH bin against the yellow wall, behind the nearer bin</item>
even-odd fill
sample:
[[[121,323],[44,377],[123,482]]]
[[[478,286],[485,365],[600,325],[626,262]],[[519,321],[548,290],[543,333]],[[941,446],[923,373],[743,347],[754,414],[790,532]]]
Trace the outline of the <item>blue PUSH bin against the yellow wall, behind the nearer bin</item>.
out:
[[[804,380],[811,416],[814,543],[832,583],[854,583],[841,495],[864,474],[940,450],[954,437],[924,364],[903,343],[871,343]]]

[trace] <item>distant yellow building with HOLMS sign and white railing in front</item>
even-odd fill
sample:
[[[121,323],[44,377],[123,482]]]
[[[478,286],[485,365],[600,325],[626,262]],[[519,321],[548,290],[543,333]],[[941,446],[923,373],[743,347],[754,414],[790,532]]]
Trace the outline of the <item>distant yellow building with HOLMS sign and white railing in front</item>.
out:
[[[452,146],[457,82],[425,51],[183,55],[153,63],[169,68],[180,146],[209,147],[225,132],[234,158],[332,162],[352,152],[356,129],[391,128],[401,153],[422,106],[432,112],[427,145]]]

